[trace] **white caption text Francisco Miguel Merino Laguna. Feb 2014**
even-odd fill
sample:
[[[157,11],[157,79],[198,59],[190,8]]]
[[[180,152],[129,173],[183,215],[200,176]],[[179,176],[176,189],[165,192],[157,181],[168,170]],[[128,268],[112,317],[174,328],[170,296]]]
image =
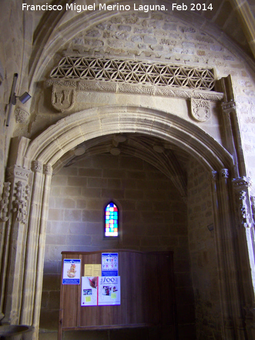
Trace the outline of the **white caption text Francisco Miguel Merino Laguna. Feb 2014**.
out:
[[[28,4],[22,4],[22,11],[24,10],[30,10],[30,11],[62,11],[65,9],[66,11],[76,11],[78,13],[83,11],[95,11],[98,9],[99,11],[142,11],[142,12],[148,12],[148,11],[167,11],[168,9],[164,5],[133,5],[133,8],[131,8],[130,5],[119,5],[119,3],[115,5],[106,5],[106,4],[99,4],[98,7],[96,7],[95,3],[93,5],[76,5],[74,4],[66,4],[66,6],[62,5],[48,5],[46,3],[45,5],[28,5]],[[172,4],[171,10],[177,10],[177,11],[207,11],[212,10],[212,4],[190,4],[189,8],[188,5],[182,4]]]

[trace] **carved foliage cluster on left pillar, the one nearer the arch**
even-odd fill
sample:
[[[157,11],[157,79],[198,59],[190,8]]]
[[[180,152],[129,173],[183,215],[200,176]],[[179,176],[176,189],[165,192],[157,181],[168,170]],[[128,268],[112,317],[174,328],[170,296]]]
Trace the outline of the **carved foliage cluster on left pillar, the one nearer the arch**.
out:
[[[24,185],[21,181],[18,181],[15,190],[16,194],[14,194],[15,200],[13,201],[12,209],[12,212],[15,213],[14,219],[25,224],[28,222],[30,187],[28,185]]]

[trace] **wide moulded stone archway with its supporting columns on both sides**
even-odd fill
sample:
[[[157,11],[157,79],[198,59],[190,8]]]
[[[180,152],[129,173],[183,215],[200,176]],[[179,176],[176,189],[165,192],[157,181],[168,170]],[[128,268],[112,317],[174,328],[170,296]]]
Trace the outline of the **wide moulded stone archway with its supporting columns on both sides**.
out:
[[[247,181],[239,178],[234,186],[231,184],[229,174],[235,173],[232,155],[200,128],[175,115],[136,106],[84,110],[61,119],[33,141],[25,138],[13,140],[8,180],[14,208],[6,223],[6,235],[11,233],[13,236],[8,241],[10,251],[5,254],[5,263],[8,264],[5,270],[9,275],[4,320],[34,325],[34,338],[37,338],[52,166],[68,150],[85,140],[127,132],[143,133],[178,144],[212,172],[222,333],[227,339],[244,339],[247,333],[252,338],[253,291],[249,274],[252,237],[247,225],[237,228],[237,233],[233,231],[233,225],[249,224]],[[234,187],[240,193],[238,201],[233,195]],[[231,214],[231,206],[239,210],[240,201],[242,215],[237,222]],[[247,239],[250,239],[248,245]],[[242,270],[244,280],[239,281],[238,270]],[[244,307],[247,309],[246,325]]]

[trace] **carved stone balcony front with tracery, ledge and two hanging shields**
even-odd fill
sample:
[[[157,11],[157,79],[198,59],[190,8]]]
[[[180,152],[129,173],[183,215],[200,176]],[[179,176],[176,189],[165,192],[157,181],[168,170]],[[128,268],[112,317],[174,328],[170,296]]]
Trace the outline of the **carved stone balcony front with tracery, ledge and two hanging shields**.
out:
[[[72,108],[75,91],[220,101],[223,93],[213,91],[214,84],[210,69],[84,56],[63,58],[47,81],[53,86],[53,106],[62,112]],[[209,103],[197,103],[196,119],[207,119],[208,107]]]

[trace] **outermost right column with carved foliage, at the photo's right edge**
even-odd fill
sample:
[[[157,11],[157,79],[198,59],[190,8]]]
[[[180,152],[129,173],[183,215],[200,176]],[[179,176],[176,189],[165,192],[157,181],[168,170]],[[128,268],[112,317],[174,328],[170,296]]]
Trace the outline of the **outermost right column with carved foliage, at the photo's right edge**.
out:
[[[233,181],[236,199],[237,240],[240,257],[240,276],[244,292],[245,323],[249,339],[255,338],[255,234],[249,196],[249,178],[241,177]],[[252,289],[253,288],[253,289]]]

